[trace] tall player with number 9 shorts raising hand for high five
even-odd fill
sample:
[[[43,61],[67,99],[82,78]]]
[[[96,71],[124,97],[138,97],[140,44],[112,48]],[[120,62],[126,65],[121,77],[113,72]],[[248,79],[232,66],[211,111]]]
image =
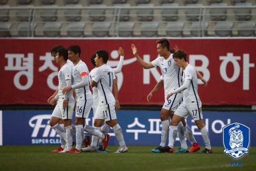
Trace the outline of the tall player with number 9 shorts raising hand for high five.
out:
[[[174,59],[170,52],[169,40],[166,38],[162,38],[160,40],[157,40],[156,43],[157,43],[157,46],[156,46],[157,53],[159,54],[160,57],[156,58],[150,63],[145,62],[139,57],[139,55],[137,54],[137,48],[135,45],[132,44],[131,48],[132,48],[133,54],[137,58],[137,61],[143,66],[144,69],[150,69],[153,67],[159,67],[161,69],[161,73],[164,78],[163,82],[164,82],[165,97],[166,97],[169,92],[179,88],[182,85],[182,70],[180,70],[174,63]],[[160,119],[162,121],[161,143],[158,147],[151,150],[152,152],[154,153],[162,152],[159,148],[164,147],[166,143],[167,132],[169,127],[168,118],[171,114],[174,113],[179,103],[181,102],[182,97],[183,97],[183,93],[179,92],[175,96],[171,97],[170,99],[165,100],[163,108],[160,112]],[[183,135],[180,138],[181,148],[175,153],[189,152],[185,138],[182,138],[184,137],[183,129],[184,129],[183,123],[181,122],[178,125],[178,131],[180,131],[179,134]],[[199,145],[197,148],[200,148]],[[174,153],[174,149],[170,149],[169,153]]]

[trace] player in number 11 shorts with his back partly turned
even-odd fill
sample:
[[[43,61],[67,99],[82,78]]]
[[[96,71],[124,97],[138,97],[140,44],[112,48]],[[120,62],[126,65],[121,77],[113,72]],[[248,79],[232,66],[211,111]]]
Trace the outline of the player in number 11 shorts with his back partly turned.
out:
[[[119,148],[115,153],[124,153],[128,151],[128,147],[125,144],[123,132],[118,124],[115,111],[115,109],[120,108],[117,79],[113,69],[107,65],[108,59],[109,53],[106,50],[96,51],[95,63],[98,68],[95,72],[95,77],[92,78],[91,87],[97,86],[99,94],[100,103],[96,113],[98,113],[98,110],[101,110],[102,113],[97,119],[104,119],[106,124],[112,127],[119,142]]]

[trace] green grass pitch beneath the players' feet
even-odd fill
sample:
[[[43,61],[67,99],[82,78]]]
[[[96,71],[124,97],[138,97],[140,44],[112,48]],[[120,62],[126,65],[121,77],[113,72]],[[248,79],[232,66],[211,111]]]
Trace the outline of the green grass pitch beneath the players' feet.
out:
[[[213,153],[152,153],[155,146],[128,146],[127,153],[51,153],[59,146],[0,146],[1,171],[256,171],[256,147],[235,160],[212,147]],[[178,147],[174,147],[177,150]],[[201,147],[203,150],[203,146]],[[200,150],[200,151],[201,151]],[[231,162],[242,166],[231,166]]]

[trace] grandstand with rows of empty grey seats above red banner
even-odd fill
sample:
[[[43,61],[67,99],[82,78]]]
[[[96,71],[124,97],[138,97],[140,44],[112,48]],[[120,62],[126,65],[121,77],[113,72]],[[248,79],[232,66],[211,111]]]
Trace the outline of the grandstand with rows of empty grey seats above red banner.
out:
[[[0,0],[0,37],[255,37],[256,0]]]

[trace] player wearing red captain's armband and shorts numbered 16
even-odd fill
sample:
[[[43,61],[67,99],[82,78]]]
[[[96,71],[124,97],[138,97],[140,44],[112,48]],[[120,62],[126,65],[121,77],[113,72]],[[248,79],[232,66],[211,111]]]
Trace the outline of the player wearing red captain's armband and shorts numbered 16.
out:
[[[82,62],[81,48],[79,45],[71,45],[68,47],[68,56],[71,62],[74,63],[72,76],[73,85],[67,86],[62,92],[63,94],[74,89],[76,93],[76,147],[72,150],[66,151],[66,153],[80,153],[82,152],[82,136],[83,131],[99,136],[103,143],[103,148],[106,148],[110,139],[110,135],[102,134],[96,130],[93,126],[85,125],[85,118],[89,117],[93,98],[89,89],[89,71],[87,65]]]

